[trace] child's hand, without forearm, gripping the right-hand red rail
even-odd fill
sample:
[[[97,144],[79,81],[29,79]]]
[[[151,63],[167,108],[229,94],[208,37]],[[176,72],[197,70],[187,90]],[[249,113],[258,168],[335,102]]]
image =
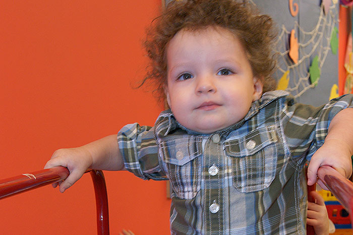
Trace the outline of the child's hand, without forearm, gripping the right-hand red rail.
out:
[[[329,165],[344,177],[349,178],[352,173],[352,163],[349,147],[342,141],[330,139],[313,155],[308,167],[308,185],[313,185],[317,180],[317,171],[320,166]],[[318,181],[325,190],[327,187]]]

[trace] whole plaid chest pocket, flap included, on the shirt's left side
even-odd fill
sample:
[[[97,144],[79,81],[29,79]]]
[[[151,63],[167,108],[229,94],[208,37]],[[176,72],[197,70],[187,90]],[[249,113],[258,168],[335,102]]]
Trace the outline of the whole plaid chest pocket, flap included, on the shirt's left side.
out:
[[[181,199],[194,198],[201,188],[202,139],[186,137],[162,141],[159,149],[174,193]]]

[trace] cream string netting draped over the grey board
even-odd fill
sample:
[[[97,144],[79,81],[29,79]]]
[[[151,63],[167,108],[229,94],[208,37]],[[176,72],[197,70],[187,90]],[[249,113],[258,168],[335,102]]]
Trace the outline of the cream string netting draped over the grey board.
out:
[[[299,35],[298,41],[300,43],[298,43],[298,47],[301,57],[298,60],[298,63],[293,63],[288,55],[289,46],[287,38],[291,36],[292,32],[288,31],[282,25],[282,31],[276,42],[276,52],[279,54],[276,77],[282,79],[279,81],[279,85],[281,86],[279,88],[284,88],[291,92],[295,97],[299,97],[308,89],[314,88],[317,85],[320,76],[315,76],[310,79],[312,73],[310,73],[310,69],[308,71],[308,68],[321,71],[327,54],[331,52],[331,50],[333,51],[333,49],[331,49],[331,38],[337,38],[338,35],[338,30],[335,27],[337,24],[337,20],[335,19],[338,19],[338,13],[335,10],[335,6],[331,6],[329,14],[325,15],[322,5],[317,26],[310,32],[303,30],[298,22],[296,22],[296,30],[293,30],[293,32],[297,31]],[[291,41],[291,39],[289,39],[289,41]],[[335,48],[333,52],[337,53],[336,47],[333,48]],[[314,55],[314,59],[311,60]],[[317,58],[317,61],[319,62],[318,66],[316,66],[315,63],[312,63],[316,61],[315,58]],[[286,76],[287,78],[285,78],[283,75],[287,71],[289,71],[289,74]],[[289,80],[289,86],[285,86],[286,80]]]

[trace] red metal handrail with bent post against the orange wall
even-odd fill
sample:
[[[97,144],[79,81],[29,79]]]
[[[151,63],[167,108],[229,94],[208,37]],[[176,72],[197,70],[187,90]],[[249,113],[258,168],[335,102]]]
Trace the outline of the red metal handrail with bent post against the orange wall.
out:
[[[86,172],[91,174],[96,197],[97,234],[109,234],[108,197],[103,172],[101,170],[87,170]],[[68,175],[67,168],[56,166],[0,180],[0,199],[60,182]]]

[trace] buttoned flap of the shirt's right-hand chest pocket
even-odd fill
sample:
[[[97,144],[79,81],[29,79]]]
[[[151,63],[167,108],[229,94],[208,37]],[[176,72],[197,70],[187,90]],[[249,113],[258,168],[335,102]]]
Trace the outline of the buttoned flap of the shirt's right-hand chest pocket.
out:
[[[225,152],[231,157],[254,155],[266,146],[278,141],[275,126],[259,128],[246,136],[224,142]]]

